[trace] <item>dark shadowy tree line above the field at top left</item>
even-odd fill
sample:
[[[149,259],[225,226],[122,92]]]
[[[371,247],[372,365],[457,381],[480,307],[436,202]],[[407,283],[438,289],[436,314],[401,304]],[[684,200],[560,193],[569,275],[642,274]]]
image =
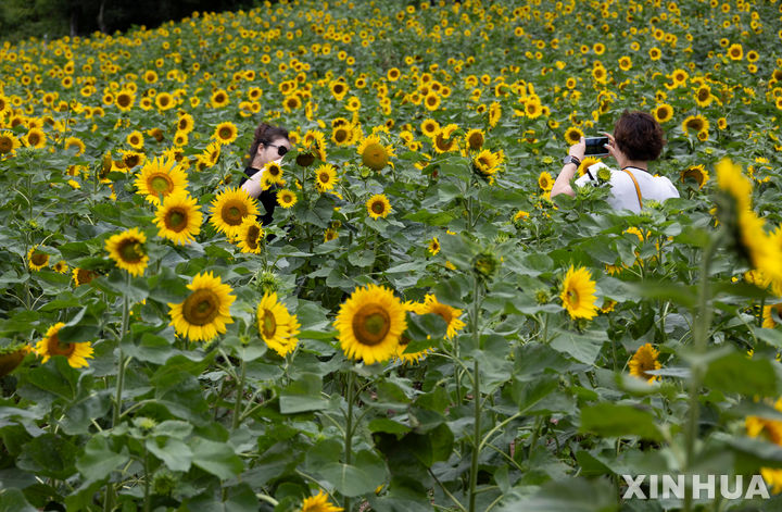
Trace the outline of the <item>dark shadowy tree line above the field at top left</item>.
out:
[[[2,0],[0,40],[28,37],[55,39],[106,34],[133,25],[157,26],[193,11],[220,12],[252,8],[256,0]]]

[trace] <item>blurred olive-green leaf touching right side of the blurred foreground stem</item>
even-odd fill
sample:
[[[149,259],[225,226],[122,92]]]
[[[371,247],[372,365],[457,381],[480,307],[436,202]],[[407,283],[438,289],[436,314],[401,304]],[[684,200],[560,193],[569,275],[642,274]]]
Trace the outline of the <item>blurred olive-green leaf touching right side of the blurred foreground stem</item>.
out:
[[[771,361],[748,359],[742,353],[731,353],[711,361],[706,370],[704,384],[724,392],[761,397],[779,395]]]

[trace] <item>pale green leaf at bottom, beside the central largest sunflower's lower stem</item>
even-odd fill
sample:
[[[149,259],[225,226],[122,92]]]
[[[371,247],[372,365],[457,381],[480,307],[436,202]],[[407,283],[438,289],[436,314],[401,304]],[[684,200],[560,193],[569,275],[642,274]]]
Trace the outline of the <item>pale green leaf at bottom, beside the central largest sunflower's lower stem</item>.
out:
[[[373,492],[388,478],[386,463],[368,450],[355,453],[352,464],[333,462],[323,466],[318,473],[349,497]]]

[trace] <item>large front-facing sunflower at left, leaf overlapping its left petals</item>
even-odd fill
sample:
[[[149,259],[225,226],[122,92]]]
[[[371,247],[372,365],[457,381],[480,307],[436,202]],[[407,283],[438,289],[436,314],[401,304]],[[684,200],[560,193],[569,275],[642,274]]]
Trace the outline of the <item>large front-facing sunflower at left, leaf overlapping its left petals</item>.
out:
[[[192,341],[210,341],[225,333],[226,324],[234,323],[229,310],[236,296],[231,295],[231,287],[207,272],[195,274],[188,289],[191,292],[185,301],[168,303],[169,325]]]

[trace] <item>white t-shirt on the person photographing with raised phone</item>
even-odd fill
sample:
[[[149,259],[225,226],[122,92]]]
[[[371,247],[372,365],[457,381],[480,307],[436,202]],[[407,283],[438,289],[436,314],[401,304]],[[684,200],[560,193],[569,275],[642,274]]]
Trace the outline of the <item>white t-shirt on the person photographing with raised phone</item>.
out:
[[[589,166],[589,172],[592,173],[595,179],[597,179],[597,171],[601,167],[608,167],[602,162]],[[611,172],[610,188],[611,195],[608,197],[608,204],[615,210],[631,210],[634,213],[639,213],[638,193],[635,192],[635,185],[628,174],[623,171],[615,171],[608,167]],[[666,199],[678,198],[679,190],[673,186],[670,179],[664,176],[652,176],[646,171],[638,167],[627,167],[639,184],[641,189],[641,199],[645,201],[653,199],[655,201],[663,202]],[[576,179],[576,185],[583,187],[590,183],[590,177],[586,173],[583,176]]]

